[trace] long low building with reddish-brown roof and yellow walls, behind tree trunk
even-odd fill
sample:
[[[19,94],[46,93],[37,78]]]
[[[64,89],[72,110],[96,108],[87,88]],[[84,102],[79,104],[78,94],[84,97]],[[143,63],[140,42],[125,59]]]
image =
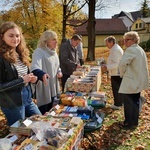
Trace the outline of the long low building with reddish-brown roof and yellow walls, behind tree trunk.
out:
[[[115,36],[117,42],[119,42],[122,40],[124,33],[128,31],[122,19],[96,19],[95,21],[96,47],[105,46],[104,39],[110,35]],[[82,35],[84,47],[88,47],[88,36],[86,28],[87,23],[74,28],[76,34]]]

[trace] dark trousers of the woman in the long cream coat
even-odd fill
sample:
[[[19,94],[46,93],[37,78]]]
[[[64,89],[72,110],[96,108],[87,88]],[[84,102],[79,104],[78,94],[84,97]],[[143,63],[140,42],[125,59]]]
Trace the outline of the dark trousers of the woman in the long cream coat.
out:
[[[125,116],[124,122],[131,126],[138,125],[140,93],[123,94],[123,98],[124,98],[124,116]]]

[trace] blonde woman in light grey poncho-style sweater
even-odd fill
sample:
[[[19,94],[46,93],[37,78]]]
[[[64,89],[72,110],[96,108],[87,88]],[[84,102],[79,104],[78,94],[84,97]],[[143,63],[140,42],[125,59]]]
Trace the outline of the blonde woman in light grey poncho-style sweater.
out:
[[[57,34],[45,31],[32,54],[31,71],[38,77],[35,97],[42,114],[48,112],[60,95],[59,78],[62,77],[59,58],[56,52]]]

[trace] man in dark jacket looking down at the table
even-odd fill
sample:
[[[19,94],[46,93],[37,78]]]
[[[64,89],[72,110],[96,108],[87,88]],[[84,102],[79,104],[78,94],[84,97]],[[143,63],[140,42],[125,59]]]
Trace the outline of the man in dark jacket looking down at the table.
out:
[[[65,83],[73,71],[77,67],[80,67],[80,62],[78,58],[78,51],[76,49],[77,45],[81,42],[81,37],[77,34],[73,35],[71,39],[63,42],[59,49],[59,59],[60,67],[62,69],[63,77],[62,82],[62,93],[64,92]]]

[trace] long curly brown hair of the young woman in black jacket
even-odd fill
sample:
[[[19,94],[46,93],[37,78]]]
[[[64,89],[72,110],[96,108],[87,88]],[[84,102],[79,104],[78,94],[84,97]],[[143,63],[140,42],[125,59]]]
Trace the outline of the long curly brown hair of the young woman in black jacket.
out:
[[[20,43],[16,47],[16,51],[12,49],[9,45],[5,43],[2,39],[3,35],[7,30],[17,28],[20,32]],[[17,57],[16,52],[19,55],[20,60],[27,66],[29,66],[30,57],[29,49],[26,46],[25,39],[22,35],[21,28],[17,26],[14,22],[5,22],[0,26],[0,56],[5,58],[10,63],[16,63]]]

